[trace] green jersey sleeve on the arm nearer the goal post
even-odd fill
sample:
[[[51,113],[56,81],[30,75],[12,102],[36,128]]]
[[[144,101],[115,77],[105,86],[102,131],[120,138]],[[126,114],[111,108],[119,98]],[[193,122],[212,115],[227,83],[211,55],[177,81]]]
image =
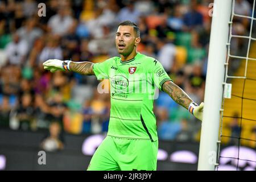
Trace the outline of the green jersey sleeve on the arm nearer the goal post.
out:
[[[154,60],[153,62],[153,77],[152,80],[154,81],[154,84],[163,91],[162,85],[166,81],[172,81],[172,79],[168,76],[166,71],[163,68],[163,65],[159,63],[159,61]]]

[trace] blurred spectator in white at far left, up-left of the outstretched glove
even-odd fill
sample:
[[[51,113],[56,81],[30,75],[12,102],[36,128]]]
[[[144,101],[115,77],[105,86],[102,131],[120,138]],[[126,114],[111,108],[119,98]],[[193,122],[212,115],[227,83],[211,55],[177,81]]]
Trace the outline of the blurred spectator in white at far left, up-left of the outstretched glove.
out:
[[[7,44],[5,49],[7,61],[10,64],[21,66],[26,61],[28,44],[26,40],[20,40],[18,33],[13,34],[13,41]]]

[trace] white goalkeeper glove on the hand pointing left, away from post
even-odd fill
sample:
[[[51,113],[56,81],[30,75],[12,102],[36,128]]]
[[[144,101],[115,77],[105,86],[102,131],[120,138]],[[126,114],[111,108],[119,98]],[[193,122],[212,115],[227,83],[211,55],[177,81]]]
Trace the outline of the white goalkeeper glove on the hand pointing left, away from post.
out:
[[[70,71],[69,64],[71,61],[61,61],[58,59],[49,59],[43,63],[44,69],[47,69],[51,72],[60,71]]]

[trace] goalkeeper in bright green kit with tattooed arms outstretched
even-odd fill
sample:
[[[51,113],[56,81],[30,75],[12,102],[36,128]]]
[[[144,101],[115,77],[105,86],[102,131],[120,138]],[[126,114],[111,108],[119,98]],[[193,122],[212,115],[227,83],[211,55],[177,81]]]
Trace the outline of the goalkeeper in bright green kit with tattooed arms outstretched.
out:
[[[141,41],[137,25],[119,24],[115,45],[120,57],[102,63],[47,60],[44,69],[95,75],[110,81],[110,119],[107,137],[94,153],[88,170],[156,170],[158,135],[153,103],[156,87],[169,94],[177,104],[202,120],[198,106],[172,82],[162,65],[153,57],[137,51]]]

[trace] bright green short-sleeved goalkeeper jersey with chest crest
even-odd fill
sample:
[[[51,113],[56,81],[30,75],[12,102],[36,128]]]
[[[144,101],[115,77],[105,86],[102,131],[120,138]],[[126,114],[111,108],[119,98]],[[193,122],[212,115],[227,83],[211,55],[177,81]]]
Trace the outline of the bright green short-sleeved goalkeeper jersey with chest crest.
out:
[[[141,53],[128,61],[112,57],[93,65],[98,80],[110,82],[111,109],[108,135],[158,140],[154,99],[165,81],[171,80],[162,64]]]

